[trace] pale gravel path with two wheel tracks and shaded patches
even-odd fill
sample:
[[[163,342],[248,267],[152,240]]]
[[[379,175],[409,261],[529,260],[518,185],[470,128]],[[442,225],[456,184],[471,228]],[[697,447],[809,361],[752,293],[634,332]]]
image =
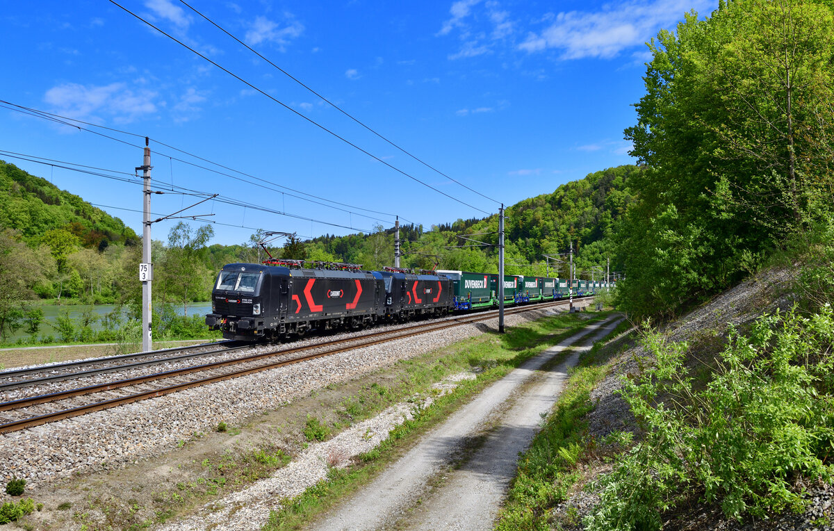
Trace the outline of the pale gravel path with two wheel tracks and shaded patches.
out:
[[[314,528],[408,528],[412,522],[418,524],[416,528],[429,529],[491,528],[515,471],[518,453],[529,445],[538,430],[539,413],[549,411],[555,402],[566,378],[565,371],[576,363],[578,353],[571,355],[555,371],[537,371],[555,354],[585,335],[599,330],[596,336],[601,338],[610,333],[616,326],[612,321],[613,318],[590,325],[530,358],[473,402],[460,408],[373,483]],[[542,381],[522,389],[535,379],[535,375]],[[507,411],[505,404],[511,397],[512,405]],[[497,428],[489,429],[493,423]],[[461,457],[461,450],[483,434],[485,428],[485,444],[465,461],[463,468],[450,472],[450,465]],[[439,477],[444,473],[448,474],[448,483],[432,493],[430,483],[445,479]],[[429,500],[423,507],[416,508],[427,494]],[[411,514],[410,510],[414,508],[416,510]],[[407,520],[399,522],[402,518]]]

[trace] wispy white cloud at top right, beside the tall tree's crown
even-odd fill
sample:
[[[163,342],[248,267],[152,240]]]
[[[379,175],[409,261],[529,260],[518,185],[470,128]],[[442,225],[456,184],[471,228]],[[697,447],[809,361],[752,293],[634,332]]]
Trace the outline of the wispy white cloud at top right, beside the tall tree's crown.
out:
[[[520,50],[560,50],[563,59],[613,58],[625,48],[646,43],[660,28],[670,28],[693,8],[709,9],[709,0],[654,0],[605,4],[600,12],[559,13],[540,33],[529,33]]]

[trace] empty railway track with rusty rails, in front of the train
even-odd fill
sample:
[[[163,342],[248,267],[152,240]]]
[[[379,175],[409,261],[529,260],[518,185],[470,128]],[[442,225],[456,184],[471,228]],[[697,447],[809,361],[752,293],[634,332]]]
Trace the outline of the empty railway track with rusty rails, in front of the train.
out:
[[[568,304],[568,301],[539,303],[532,306],[508,308],[505,314],[521,313],[530,309],[551,308]],[[146,374],[135,378],[98,383],[82,388],[73,388],[56,393],[20,398],[0,403],[0,433],[9,433],[32,428],[44,423],[93,413],[119,405],[177,393],[208,383],[239,378],[247,374],[279,368],[292,363],[301,363],[364,348],[409,338],[422,333],[435,332],[465,324],[495,318],[497,310],[465,315],[444,321],[418,323],[404,328],[363,333],[349,338],[340,338],[300,347],[271,349],[240,358],[226,359],[214,363],[191,365],[159,373]],[[140,362],[141,363],[141,362]],[[113,369],[118,370],[118,369]],[[61,376],[63,378],[63,376]],[[67,379],[67,378],[64,378]]]

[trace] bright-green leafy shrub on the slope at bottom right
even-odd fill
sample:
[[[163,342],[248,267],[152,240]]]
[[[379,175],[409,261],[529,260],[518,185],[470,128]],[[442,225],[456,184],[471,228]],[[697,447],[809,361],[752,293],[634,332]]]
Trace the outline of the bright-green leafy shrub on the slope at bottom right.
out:
[[[791,479],[834,474],[826,464],[834,453],[832,341],[828,305],[812,318],[765,315],[749,338],[731,328],[716,373],[699,390],[686,375],[686,343],[647,332],[655,365],[623,389],[646,438],[600,480],[588,531],[660,528],[661,511],[692,488],[736,519],[801,508]]]

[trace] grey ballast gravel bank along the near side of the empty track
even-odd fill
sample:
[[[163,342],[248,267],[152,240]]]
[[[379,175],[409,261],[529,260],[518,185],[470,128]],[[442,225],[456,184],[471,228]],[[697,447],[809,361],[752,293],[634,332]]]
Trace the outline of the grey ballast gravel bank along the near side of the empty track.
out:
[[[575,306],[589,303],[577,301]],[[561,311],[531,308],[507,315],[505,323],[511,326]],[[0,473],[4,482],[26,478],[28,488],[37,488],[75,473],[120,468],[166,453],[195,433],[212,431],[219,422],[242,424],[256,413],[279,408],[330,383],[480,335],[485,325],[497,328],[497,318],[4,433],[0,435]]]

